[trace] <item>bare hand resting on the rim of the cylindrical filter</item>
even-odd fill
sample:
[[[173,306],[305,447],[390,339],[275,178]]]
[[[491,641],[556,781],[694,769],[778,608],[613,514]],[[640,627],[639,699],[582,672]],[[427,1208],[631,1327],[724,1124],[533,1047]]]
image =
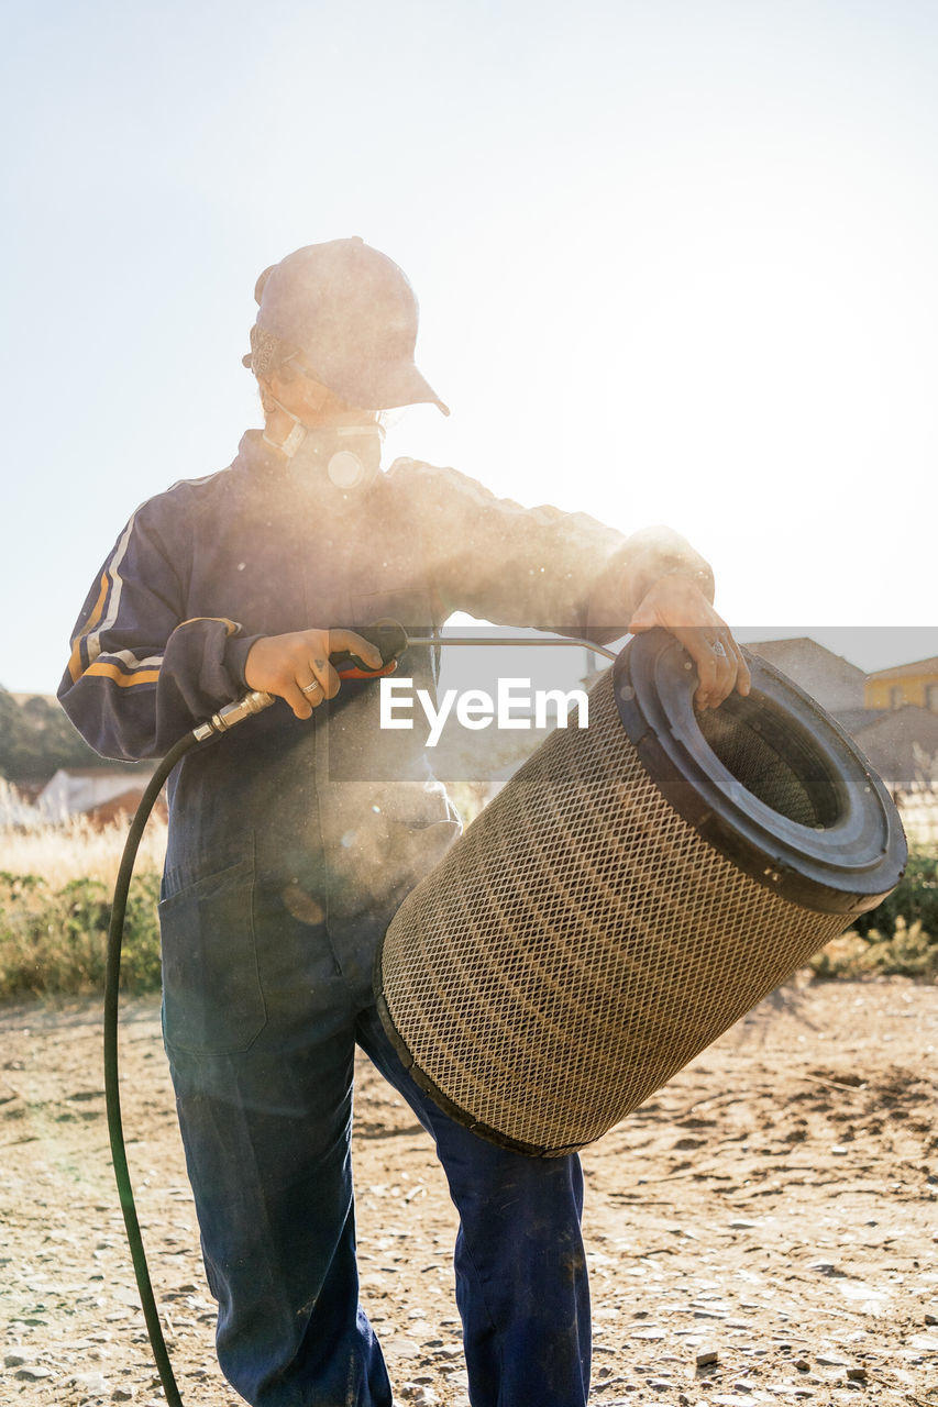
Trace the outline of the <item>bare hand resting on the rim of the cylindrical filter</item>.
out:
[[[699,709],[720,708],[735,689],[749,692],[749,670],[725,620],[717,615],[692,574],[669,571],[645,592],[628,629],[632,635],[663,626],[694,661]]]

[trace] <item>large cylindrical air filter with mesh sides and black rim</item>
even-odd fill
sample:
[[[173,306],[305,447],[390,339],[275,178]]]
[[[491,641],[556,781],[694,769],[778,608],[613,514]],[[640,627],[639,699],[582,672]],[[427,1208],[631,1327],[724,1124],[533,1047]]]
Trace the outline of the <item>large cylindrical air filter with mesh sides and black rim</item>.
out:
[[[551,1157],[599,1138],[899,882],[899,813],[842,729],[746,656],[694,713],[637,636],[404,900],[376,991],[459,1121]]]

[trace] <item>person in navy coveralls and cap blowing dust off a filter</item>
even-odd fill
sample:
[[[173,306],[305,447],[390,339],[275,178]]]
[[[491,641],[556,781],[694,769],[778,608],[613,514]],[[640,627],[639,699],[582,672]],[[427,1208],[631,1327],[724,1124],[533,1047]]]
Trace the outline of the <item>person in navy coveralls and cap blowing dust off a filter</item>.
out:
[[[579,1407],[590,1369],[576,1157],[486,1142],[408,1078],[372,964],[403,896],[458,834],[414,729],[330,656],[358,630],[425,636],[454,611],[615,639],[665,626],[700,708],[748,689],[707,563],[523,508],[449,469],[380,467],[380,412],[446,412],[414,362],[417,301],[361,239],[265,270],[246,364],[263,429],[234,463],[145,502],[80,612],[59,696],[104,756],[162,756],[246,689],[276,704],[170,778],[161,898],[165,1047],[223,1372],[255,1407],[389,1407],[359,1303],[349,1162],[358,1044],[435,1142],[459,1213],[456,1300],[473,1407]],[[401,673],[434,688],[437,657]]]

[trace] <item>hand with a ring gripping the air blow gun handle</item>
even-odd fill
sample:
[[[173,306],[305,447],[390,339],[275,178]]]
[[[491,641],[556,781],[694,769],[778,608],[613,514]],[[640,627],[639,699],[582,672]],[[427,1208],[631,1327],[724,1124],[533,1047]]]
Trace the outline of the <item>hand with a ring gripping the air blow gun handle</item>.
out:
[[[297,718],[310,718],[323,699],[335,698],[341,680],[330,654],[348,650],[369,667],[382,667],[382,651],[354,630],[292,630],[265,635],[248,651],[244,677],[251,689],[284,699]]]

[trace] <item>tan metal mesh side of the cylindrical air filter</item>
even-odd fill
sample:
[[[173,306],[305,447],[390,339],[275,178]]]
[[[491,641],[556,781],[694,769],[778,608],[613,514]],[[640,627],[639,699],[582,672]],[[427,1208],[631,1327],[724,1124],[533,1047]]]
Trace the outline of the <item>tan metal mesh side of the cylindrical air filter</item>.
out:
[[[383,995],[417,1078],[468,1124],[561,1154],[846,922],[780,899],[700,839],[648,777],[606,674],[589,729],[558,729],[407,898]]]

